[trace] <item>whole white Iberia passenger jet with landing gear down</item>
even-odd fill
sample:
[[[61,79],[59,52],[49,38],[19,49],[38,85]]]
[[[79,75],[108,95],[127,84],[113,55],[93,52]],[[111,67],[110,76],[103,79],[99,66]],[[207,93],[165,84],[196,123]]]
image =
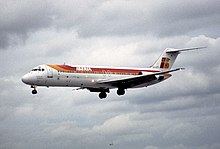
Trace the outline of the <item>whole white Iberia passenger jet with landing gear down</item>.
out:
[[[127,89],[147,87],[170,78],[171,72],[184,69],[171,69],[181,52],[203,48],[206,47],[166,48],[148,68],[43,64],[34,67],[21,80],[33,88],[32,94],[37,94],[37,86],[78,87],[76,90],[98,92],[99,98],[104,99],[110,89],[117,88],[117,94],[121,96]]]

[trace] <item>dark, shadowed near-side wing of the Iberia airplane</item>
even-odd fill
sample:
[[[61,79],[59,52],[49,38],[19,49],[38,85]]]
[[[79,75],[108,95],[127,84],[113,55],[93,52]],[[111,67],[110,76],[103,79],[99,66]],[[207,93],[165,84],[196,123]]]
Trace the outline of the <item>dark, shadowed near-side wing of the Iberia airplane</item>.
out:
[[[162,75],[162,74],[166,74],[166,73],[170,73],[170,72],[174,72],[174,71],[178,71],[178,70],[182,70],[182,69],[184,69],[184,68],[177,68],[177,69],[173,69],[173,70],[157,72],[157,73],[152,73],[152,74],[148,74],[148,75],[140,75],[140,76],[125,78],[125,79],[100,81],[100,82],[98,82],[98,84],[106,84],[106,85],[114,86],[117,88],[127,89],[127,88],[141,85],[143,83],[154,81],[157,79],[157,77],[156,77],[157,75]]]

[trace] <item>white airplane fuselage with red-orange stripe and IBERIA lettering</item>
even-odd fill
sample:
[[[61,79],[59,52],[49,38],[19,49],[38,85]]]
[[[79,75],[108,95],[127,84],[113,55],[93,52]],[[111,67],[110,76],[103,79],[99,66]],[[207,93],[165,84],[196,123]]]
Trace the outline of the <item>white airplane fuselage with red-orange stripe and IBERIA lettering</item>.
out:
[[[54,68],[53,68],[54,66]],[[99,68],[88,66],[73,66],[74,70],[56,69],[55,65],[39,65],[22,77],[22,81],[31,86],[60,86],[82,88],[115,88],[108,84],[99,84],[100,81],[108,81],[122,78],[130,78],[137,75],[152,74],[158,72],[155,69],[137,68]],[[98,71],[94,71],[98,69]],[[129,71],[130,70],[130,71]],[[138,72],[140,74],[138,74]],[[143,83],[135,87],[149,86],[160,81]]]

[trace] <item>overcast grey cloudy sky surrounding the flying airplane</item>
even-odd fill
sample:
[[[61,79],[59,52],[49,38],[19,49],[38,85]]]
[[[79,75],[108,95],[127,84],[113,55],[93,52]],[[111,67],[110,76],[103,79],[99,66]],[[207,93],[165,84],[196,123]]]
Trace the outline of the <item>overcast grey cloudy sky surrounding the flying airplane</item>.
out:
[[[0,148],[219,149],[219,0],[0,0]],[[39,64],[186,70],[106,100],[21,77]],[[113,143],[112,146],[109,144]]]

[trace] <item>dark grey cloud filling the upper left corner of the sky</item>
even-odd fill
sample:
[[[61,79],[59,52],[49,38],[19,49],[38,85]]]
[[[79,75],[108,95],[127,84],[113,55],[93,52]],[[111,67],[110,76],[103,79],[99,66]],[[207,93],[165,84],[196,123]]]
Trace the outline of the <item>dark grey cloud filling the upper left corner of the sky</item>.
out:
[[[50,26],[51,11],[45,1],[1,1],[0,48],[24,42],[30,32]]]

